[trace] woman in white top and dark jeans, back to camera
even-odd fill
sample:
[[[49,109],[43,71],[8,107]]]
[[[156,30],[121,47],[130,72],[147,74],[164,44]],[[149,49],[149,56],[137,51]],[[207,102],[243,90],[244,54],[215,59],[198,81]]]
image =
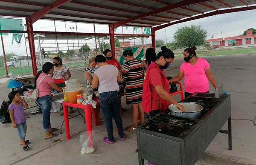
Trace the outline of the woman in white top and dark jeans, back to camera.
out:
[[[121,73],[116,66],[106,63],[106,57],[98,55],[95,58],[99,67],[93,75],[92,88],[99,84],[99,105],[105,116],[105,124],[108,137],[104,137],[104,142],[114,143],[112,116],[115,119],[118,129],[119,139],[125,140],[126,134],[123,131],[122,119],[120,117],[120,92],[117,82],[121,82]]]

